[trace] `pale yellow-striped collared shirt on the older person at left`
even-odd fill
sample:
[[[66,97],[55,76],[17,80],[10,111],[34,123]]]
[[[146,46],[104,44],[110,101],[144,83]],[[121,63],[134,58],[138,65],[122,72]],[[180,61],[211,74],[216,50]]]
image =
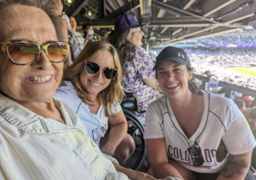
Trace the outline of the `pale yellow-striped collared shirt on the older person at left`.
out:
[[[115,171],[72,109],[55,98],[54,104],[66,124],[0,94],[0,179],[128,179]]]

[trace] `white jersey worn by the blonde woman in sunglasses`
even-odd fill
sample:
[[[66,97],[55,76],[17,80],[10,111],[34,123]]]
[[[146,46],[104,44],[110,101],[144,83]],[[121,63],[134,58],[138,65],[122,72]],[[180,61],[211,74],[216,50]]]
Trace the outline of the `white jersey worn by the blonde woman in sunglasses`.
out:
[[[99,146],[99,141],[104,137],[108,128],[108,118],[105,116],[102,106],[99,107],[97,114],[92,114],[89,105],[85,104],[77,95],[70,81],[62,81],[56,90],[54,97],[68,103],[72,110],[80,117],[86,126],[89,136]],[[112,112],[120,112],[120,104],[114,106]]]

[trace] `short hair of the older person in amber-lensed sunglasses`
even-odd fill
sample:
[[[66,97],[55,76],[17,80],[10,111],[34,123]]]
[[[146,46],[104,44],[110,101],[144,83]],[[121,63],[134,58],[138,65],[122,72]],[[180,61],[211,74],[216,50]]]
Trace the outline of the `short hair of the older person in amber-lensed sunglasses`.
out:
[[[7,14],[8,10],[12,9],[12,6],[15,5],[23,5],[23,6],[30,6],[36,7],[38,9],[43,10],[54,25],[56,36],[58,41],[62,41],[62,20],[57,15],[57,6],[54,1],[52,0],[1,0],[0,1],[0,32],[4,32],[1,26],[3,22],[9,23],[9,15]],[[0,42],[4,38],[4,33],[1,33]]]

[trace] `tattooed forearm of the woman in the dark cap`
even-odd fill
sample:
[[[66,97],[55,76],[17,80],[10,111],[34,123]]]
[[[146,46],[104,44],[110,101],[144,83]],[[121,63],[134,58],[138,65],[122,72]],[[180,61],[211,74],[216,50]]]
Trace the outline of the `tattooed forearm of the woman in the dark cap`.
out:
[[[244,180],[250,168],[252,151],[244,154],[229,154],[228,163],[224,166],[217,180]]]

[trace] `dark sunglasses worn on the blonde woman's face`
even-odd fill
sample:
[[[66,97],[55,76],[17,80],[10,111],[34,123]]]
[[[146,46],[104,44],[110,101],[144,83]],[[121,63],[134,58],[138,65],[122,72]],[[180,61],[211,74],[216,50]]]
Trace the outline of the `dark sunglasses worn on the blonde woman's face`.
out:
[[[99,69],[102,69],[105,79],[113,79],[118,72],[115,68],[101,68],[97,63],[85,61],[85,71],[88,72],[88,74],[96,74]]]

